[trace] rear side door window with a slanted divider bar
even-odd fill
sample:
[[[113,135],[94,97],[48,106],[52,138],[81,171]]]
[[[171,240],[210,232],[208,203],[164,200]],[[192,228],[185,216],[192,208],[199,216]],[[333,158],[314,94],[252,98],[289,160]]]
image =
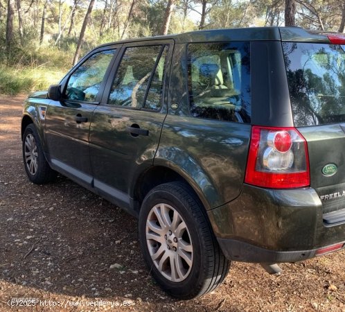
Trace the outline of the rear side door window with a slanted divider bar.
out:
[[[159,110],[168,46],[125,49],[108,104]]]

